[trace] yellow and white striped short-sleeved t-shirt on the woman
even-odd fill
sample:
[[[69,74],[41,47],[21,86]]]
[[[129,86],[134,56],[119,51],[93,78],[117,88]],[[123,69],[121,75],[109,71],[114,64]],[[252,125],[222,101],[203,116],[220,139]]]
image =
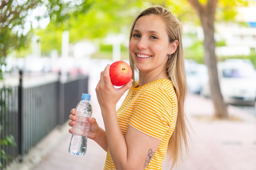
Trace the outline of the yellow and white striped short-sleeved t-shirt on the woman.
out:
[[[128,125],[151,137],[161,140],[146,170],[162,170],[168,141],[177,119],[177,97],[168,79],[159,79],[129,89],[124,102],[117,111],[117,118],[124,136]],[[108,149],[104,170],[115,170]]]

